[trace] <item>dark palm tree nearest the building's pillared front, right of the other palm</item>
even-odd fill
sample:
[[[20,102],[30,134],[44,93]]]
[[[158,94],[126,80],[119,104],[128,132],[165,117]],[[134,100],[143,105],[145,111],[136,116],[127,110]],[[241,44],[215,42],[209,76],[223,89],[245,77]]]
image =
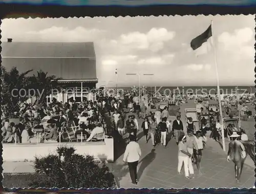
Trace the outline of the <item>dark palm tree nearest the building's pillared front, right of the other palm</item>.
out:
[[[38,104],[44,102],[46,97],[50,95],[54,90],[60,91],[61,85],[58,82],[60,78],[56,78],[56,76],[47,76],[48,72],[37,71],[37,76],[33,75],[29,77],[29,85],[30,88],[36,91],[35,96],[37,98]]]

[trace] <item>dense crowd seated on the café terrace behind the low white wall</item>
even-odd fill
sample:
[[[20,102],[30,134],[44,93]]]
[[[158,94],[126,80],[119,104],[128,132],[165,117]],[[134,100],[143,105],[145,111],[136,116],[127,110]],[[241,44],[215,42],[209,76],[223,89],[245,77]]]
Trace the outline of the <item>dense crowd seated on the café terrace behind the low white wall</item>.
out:
[[[84,100],[80,104],[73,100],[67,103],[53,100],[48,106],[21,103],[18,124],[2,117],[2,135],[6,143],[30,143],[39,132],[41,143],[57,142],[66,140],[64,136],[68,131],[63,129],[73,128],[76,138],[82,133],[86,141],[91,141],[97,134],[110,134],[121,120],[119,115],[125,118],[122,101],[111,96],[96,101]]]

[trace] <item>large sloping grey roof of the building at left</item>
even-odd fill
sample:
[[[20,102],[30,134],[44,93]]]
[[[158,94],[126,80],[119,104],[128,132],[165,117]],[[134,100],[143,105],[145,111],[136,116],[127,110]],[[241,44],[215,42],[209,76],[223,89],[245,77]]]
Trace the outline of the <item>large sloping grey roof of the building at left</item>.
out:
[[[2,65],[9,71],[42,70],[61,79],[97,79],[93,42],[2,42]]]

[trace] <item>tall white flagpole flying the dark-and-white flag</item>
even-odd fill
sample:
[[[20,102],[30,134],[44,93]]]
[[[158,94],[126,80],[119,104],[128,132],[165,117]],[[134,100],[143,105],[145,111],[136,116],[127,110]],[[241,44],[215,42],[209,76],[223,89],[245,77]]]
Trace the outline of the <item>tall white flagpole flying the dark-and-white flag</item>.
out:
[[[221,95],[220,95],[220,82],[219,82],[219,73],[218,73],[218,65],[217,65],[217,55],[215,49],[215,41],[214,41],[214,33],[212,31],[212,20],[211,20],[211,35],[212,35],[212,45],[214,47],[214,58],[215,58],[215,69],[216,69],[216,77],[217,77],[217,90],[218,90],[218,97],[219,97],[219,106],[220,106],[220,117],[221,117],[221,136],[222,136],[222,147],[224,152],[226,151],[225,146],[225,137],[224,137],[224,128],[223,128],[223,117],[222,117],[222,107],[221,107]]]

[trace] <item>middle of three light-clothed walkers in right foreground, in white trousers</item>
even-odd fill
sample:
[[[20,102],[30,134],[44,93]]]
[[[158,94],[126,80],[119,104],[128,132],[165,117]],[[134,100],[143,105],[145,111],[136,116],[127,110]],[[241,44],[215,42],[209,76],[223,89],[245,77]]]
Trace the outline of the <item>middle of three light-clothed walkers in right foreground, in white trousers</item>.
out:
[[[193,168],[193,158],[194,149],[198,152],[198,146],[196,142],[196,137],[193,135],[193,132],[187,134],[187,152],[191,154],[192,157],[188,158],[188,170],[191,178],[194,178],[194,168]]]

